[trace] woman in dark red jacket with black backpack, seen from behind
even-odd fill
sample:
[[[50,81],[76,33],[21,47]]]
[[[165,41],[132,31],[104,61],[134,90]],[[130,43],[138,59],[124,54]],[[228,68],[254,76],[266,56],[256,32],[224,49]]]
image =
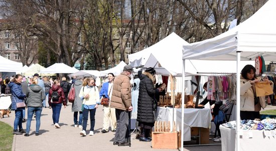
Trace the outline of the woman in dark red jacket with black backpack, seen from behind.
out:
[[[60,87],[60,81],[55,80],[54,85],[49,91],[49,106],[52,107],[53,111],[53,123],[56,128],[60,128],[59,123],[59,115],[62,104],[64,108],[66,108],[65,96],[63,89]]]

